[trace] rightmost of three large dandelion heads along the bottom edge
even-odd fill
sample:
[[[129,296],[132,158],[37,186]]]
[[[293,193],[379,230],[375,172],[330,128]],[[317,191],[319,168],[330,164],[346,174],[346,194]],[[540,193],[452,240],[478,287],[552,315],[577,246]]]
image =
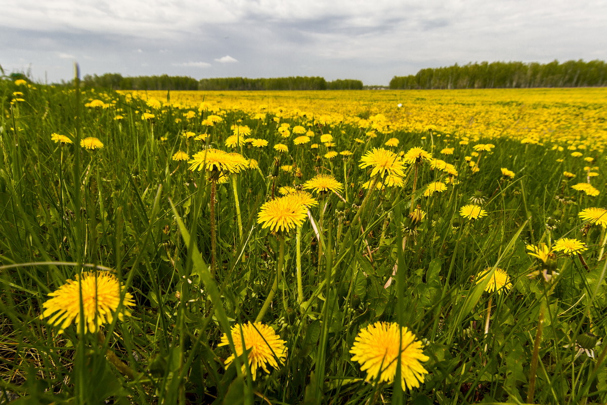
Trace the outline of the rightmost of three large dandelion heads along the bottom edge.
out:
[[[419,387],[428,372],[421,365],[429,357],[422,352],[422,342],[406,327],[394,322],[375,322],[356,335],[350,349],[352,361],[361,364],[369,382],[392,383],[396,376],[397,361],[401,363],[403,390]]]

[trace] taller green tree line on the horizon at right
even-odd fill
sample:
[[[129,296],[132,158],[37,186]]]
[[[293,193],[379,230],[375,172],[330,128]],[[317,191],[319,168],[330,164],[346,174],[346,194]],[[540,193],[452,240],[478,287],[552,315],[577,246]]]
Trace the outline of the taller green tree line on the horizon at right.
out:
[[[421,69],[395,76],[390,89],[497,89],[607,86],[607,64],[594,60],[558,63],[482,62]]]

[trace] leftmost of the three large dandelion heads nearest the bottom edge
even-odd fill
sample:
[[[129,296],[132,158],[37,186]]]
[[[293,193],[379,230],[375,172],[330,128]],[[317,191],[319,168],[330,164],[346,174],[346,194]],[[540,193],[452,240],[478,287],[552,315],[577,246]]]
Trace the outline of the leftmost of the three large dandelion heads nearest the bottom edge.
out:
[[[41,318],[50,316],[49,324],[58,326],[59,333],[63,333],[73,321],[79,325],[82,296],[84,330],[95,333],[100,325],[112,323],[118,310],[118,319],[122,319],[123,315],[131,315],[125,307],[135,305],[133,296],[128,292],[121,293],[120,290],[118,279],[107,271],[76,274],[75,280],[67,280],[58,290],[49,293],[53,298],[42,304],[44,312]]]

